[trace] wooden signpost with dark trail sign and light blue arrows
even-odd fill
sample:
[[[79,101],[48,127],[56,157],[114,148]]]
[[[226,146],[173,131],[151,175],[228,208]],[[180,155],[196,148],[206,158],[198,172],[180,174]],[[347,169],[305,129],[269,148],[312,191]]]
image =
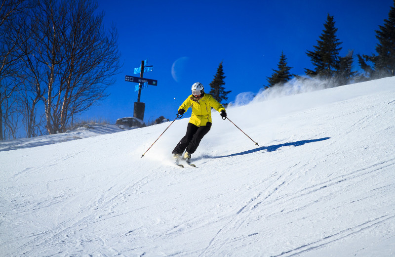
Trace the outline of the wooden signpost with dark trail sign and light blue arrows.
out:
[[[146,64],[147,64],[147,62],[148,61],[146,61]],[[125,81],[139,84],[139,94],[137,96],[137,102],[134,102],[133,117],[143,121],[144,120],[145,103],[140,102],[141,89],[143,88],[143,84],[144,83],[148,83],[148,85],[152,85],[152,86],[158,86],[158,81],[157,80],[143,78],[144,71],[146,71],[146,72],[152,71],[152,66],[144,67],[144,60],[141,61],[140,68],[135,68],[134,70],[135,71],[140,70],[140,77],[134,77],[134,76],[126,75],[125,76]]]

